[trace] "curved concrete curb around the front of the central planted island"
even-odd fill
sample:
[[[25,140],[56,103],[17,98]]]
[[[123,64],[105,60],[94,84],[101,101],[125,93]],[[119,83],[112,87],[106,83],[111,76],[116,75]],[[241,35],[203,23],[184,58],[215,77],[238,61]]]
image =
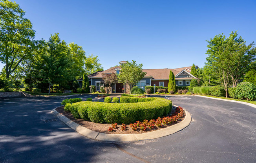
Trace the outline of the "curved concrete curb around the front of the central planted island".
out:
[[[55,108],[56,109],[56,108]],[[185,129],[191,122],[192,118],[189,112],[185,110],[186,116],[183,121],[167,127],[165,129],[156,130],[152,132],[146,132],[143,134],[105,134],[101,132],[96,132],[86,127],[83,127],[71,120],[69,120],[66,116],[63,116],[55,109],[51,110],[51,113],[59,118],[63,123],[68,125],[71,129],[75,130],[79,134],[82,134],[90,139],[95,139],[99,141],[138,141],[138,140],[146,140],[146,139],[155,139],[161,138],[163,136],[168,136],[174,134],[180,130]]]

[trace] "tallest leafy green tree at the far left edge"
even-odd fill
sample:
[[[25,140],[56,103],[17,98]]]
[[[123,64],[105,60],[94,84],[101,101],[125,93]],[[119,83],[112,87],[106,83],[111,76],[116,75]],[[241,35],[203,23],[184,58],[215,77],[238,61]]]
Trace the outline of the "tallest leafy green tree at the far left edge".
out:
[[[24,14],[16,2],[0,2],[0,61],[5,64],[7,79],[22,61],[33,56],[36,47],[35,31]]]

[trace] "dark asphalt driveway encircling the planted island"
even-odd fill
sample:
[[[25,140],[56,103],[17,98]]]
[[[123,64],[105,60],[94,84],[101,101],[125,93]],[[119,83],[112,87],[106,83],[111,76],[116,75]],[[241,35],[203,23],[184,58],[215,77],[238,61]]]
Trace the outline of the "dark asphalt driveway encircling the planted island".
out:
[[[126,143],[94,141],[55,121],[50,111],[64,98],[0,99],[0,163],[256,162],[255,108],[197,96],[166,97],[190,112],[192,123],[170,136]]]

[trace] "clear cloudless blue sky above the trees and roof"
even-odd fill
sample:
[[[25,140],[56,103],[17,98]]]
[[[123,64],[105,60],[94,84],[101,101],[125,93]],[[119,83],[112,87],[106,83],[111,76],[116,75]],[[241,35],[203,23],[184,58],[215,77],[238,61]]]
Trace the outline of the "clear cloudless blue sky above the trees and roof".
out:
[[[203,67],[219,33],[256,41],[256,0],[16,0],[37,40],[59,33],[99,56],[105,69],[136,60],[143,69]],[[3,64],[0,65],[0,68]]]

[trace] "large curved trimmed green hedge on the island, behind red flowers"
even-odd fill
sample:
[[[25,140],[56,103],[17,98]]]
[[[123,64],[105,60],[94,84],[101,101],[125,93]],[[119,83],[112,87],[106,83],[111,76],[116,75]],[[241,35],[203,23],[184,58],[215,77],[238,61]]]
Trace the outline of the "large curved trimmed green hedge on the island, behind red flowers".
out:
[[[172,101],[163,98],[121,97],[121,103],[82,101],[69,108],[75,118],[96,123],[134,123],[166,116]],[[131,103],[132,102],[132,103]]]

